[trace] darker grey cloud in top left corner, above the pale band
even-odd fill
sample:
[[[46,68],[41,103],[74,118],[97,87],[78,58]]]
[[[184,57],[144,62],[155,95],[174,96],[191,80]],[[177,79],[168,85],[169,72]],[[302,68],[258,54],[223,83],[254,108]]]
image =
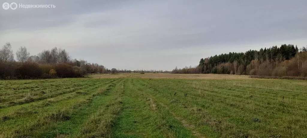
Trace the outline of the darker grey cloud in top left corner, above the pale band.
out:
[[[75,0],[15,0],[18,7],[19,4],[47,4],[55,5],[56,8],[41,8],[41,9],[20,9],[16,10],[1,10],[0,30],[6,29],[41,29],[45,27],[55,27],[69,24],[75,21],[75,16],[80,14],[103,12],[116,8],[120,8],[124,4],[129,4],[131,1],[110,1],[99,0],[95,2],[75,1]]]

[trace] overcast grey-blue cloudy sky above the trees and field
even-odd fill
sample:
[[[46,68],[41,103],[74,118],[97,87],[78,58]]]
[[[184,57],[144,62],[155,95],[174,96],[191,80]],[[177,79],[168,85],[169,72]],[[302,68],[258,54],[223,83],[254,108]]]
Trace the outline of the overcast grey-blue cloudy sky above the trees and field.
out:
[[[307,45],[306,0],[0,0],[50,4],[0,9],[0,44],[31,55],[64,48],[119,69],[172,70],[200,58],[281,44]]]

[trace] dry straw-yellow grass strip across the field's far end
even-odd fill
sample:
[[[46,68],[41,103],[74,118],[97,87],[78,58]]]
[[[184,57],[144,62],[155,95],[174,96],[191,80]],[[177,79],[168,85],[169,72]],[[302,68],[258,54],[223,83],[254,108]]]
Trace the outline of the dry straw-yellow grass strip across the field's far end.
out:
[[[172,78],[172,79],[254,79],[248,75],[228,74],[170,74],[170,73],[118,73],[118,74],[93,74],[94,78]]]

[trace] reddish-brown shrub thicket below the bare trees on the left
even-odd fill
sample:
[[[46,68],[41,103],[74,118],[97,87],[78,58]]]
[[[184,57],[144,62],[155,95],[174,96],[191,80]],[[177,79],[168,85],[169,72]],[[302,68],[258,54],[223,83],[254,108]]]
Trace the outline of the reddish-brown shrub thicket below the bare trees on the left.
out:
[[[0,79],[48,79],[84,77],[86,71],[66,63],[56,65],[33,62],[0,63]]]

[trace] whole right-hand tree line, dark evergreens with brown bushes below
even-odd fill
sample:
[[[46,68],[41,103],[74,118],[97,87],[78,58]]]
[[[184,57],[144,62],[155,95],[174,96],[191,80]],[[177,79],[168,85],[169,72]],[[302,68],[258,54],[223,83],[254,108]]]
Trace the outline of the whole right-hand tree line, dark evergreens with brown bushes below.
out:
[[[307,76],[307,47],[293,44],[201,58],[196,67],[177,67],[172,73],[212,73],[260,76]]]

